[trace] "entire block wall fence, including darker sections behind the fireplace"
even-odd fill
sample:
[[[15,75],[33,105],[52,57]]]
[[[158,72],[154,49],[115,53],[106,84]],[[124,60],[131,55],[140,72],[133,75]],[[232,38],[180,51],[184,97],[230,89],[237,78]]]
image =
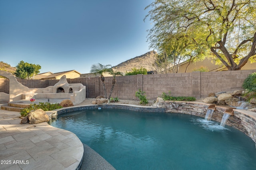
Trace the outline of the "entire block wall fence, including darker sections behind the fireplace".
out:
[[[242,89],[244,79],[256,70],[237,70],[220,72],[189,72],[170,74],[149,74],[134,76],[116,76],[111,97],[124,100],[136,99],[135,92],[141,89],[149,100],[155,100],[162,92],[171,92],[172,96],[207,97],[209,93],[229,92]],[[59,80],[26,80],[18,82],[28,88],[46,88],[54,86]],[[99,77],[67,79],[68,83],[82,83],[87,86],[87,97],[104,96],[102,81]],[[107,97],[112,87],[112,77],[105,77]],[[0,78],[0,92],[9,93],[9,81]]]

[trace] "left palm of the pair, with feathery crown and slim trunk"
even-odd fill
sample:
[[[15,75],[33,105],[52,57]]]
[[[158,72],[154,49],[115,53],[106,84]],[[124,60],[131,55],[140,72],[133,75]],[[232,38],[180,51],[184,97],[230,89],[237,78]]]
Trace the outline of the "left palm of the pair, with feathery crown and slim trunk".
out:
[[[103,73],[108,72],[108,70],[110,69],[109,67],[111,67],[110,64],[103,65],[103,64],[98,63],[98,64],[92,64],[91,70],[90,70],[90,72],[94,73],[94,75],[96,75],[97,73],[100,74],[100,79],[103,84],[105,98],[107,98],[107,92],[106,92],[106,88],[105,88],[105,83],[104,83],[105,77],[103,76]]]

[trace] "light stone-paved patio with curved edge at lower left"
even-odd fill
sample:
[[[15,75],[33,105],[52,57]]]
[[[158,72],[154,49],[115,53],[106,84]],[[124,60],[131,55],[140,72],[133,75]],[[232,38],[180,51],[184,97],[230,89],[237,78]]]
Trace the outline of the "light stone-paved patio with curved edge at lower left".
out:
[[[46,122],[20,121],[19,112],[0,109],[1,170],[75,170],[80,165],[84,146],[74,133]]]

